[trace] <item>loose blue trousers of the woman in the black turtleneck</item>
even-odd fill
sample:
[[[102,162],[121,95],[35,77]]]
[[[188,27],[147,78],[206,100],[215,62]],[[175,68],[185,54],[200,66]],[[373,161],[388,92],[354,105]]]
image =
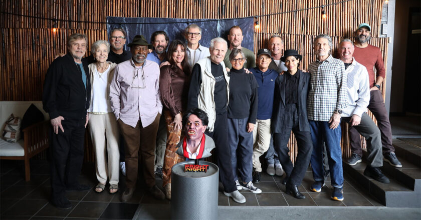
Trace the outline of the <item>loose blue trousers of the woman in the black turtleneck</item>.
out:
[[[241,174],[239,180],[244,182],[250,182],[253,179],[253,132],[247,132],[248,120],[247,117],[228,118],[228,144],[231,150],[234,180],[239,179],[237,175],[237,164],[239,164]]]

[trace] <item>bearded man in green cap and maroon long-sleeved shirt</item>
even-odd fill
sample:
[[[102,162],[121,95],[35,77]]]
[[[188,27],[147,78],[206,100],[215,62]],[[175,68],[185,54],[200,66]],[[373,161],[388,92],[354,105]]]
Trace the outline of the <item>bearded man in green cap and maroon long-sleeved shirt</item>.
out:
[[[402,167],[402,164],[399,162],[394,152],[395,149],[392,146],[392,129],[389,115],[386,111],[383,96],[380,91],[380,86],[386,76],[383,57],[381,56],[380,48],[368,44],[370,35],[371,26],[368,23],[360,23],[354,32],[354,58],[364,65],[368,71],[370,102],[367,107],[377,119],[378,128],[381,133],[383,158],[392,166]],[[376,69],[376,74],[374,74],[374,68]],[[358,162],[361,162],[362,150],[360,135],[354,127],[349,128],[349,142],[352,154],[347,162],[350,165],[355,165]]]

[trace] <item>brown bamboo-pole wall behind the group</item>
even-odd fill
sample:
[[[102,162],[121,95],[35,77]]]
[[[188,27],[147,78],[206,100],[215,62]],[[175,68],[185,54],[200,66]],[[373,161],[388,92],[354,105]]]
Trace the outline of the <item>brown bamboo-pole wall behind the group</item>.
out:
[[[351,0],[325,7],[327,18],[321,18],[322,4],[340,0],[3,0],[3,12],[53,19],[38,19],[2,13],[0,16],[0,100],[40,100],[46,70],[53,57],[66,52],[67,36],[85,33],[88,44],[108,39],[106,16],[232,18],[258,16],[255,48],[265,47],[269,37],[283,36],[285,48],[303,54],[302,67],[315,60],[312,39],[320,33],[340,39],[352,36],[361,22],[371,25],[370,43],[380,47],[387,60],[387,40],[379,38],[382,0]],[[301,10],[305,8],[312,8]],[[269,16],[259,16],[298,10]],[[76,21],[68,21],[76,20]],[[53,31],[57,27],[57,31]],[[148,37],[147,37],[148,38]],[[88,52],[87,54],[88,55]],[[385,81],[383,84],[385,85]],[[382,86],[382,93],[385,87]],[[344,157],[350,155],[346,126],[342,125]],[[293,137],[293,136],[292,136]],[[87,145],[91,145],[86,141]],[[297,153],[295,138],[290,138],[291,158]],[[89,147],[88,147],[89,148]],[[88,149],[88,160],[93,158]]]

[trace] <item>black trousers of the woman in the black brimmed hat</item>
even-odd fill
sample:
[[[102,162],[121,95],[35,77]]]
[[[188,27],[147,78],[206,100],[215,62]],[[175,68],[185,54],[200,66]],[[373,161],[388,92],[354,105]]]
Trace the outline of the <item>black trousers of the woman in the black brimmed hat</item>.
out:
[[[293,166],[290,156],[288,155],[288,139],[294,132],[298,143],[298,154]],[[278,152],[279,161],[285,170],[289,180],[287,183],[300,185],[304,178],[308,164],[310,163],[311,153],[313,151],[313,143],[311,141],[310,131],[300,131],[298,123],[298,113],[296,104],[287,104],[281,133],[273,134],[273,142],[275,150]]]

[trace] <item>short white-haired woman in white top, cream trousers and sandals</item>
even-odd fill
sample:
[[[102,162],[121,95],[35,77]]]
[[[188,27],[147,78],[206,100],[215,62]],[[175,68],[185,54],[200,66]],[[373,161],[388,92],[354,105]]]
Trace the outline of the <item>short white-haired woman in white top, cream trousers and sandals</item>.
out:
[[[110,44],[98,40],[91,52],[96,62],[89,64],[91,74],[91,104],[89,106],[89,130],[95,151],[95,168],[98,184],[96,192],[102,192],[109,180],[109,192],[118,191],[119,158],[117,120],[112,113],[108,98],[109,87],[116,63],[107,61]],[[106,158],[108,155],[108,158]]]

